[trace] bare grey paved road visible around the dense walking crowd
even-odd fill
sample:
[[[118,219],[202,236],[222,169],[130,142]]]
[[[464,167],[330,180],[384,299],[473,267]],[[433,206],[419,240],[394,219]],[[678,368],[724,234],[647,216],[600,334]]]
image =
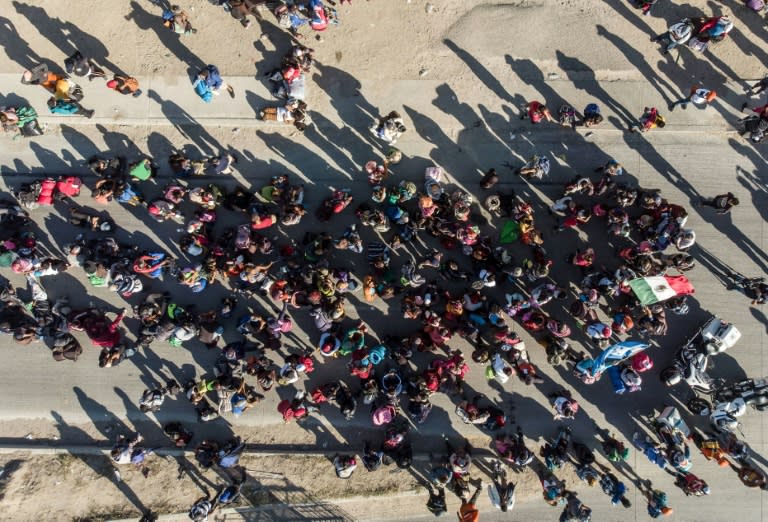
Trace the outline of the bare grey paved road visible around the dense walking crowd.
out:
[[[486,80],[477,72],[476,67],[470,68],[478,74],[478,84]],[[266,183],[269,176],[290,172],[307,184],[307,204],[310,209],[316,208],[331,186],[351,188],[357,201],[362,202],[368,196],[362,164],[376,154],[380,155],[383,146],[371,141],[366,130],[370,123],[370,111],[360,107],[381,107],[381,112],[397,108],[406,116],[409,131],[398,143],[406,159],[394,169],[396,178],[421,180],[424,167],[435,162],[446,169],[451,181],[457,186],[470,190],[478,199],[482,199],[483,195],[478,188],[480,172],[496,167],[503,178],[497,188],[515,190],[521,197],[533,202],[537,223],[545,231],[545,247],[556,261],[553,279],[566,285],[579,279],[578,270],[565,266],[561,261],[575,248],[586,244],[594,246],[598,252],[598,262],[611,267],[617,263],[613,252],[624,243],[609,243],[604,226],[596,221],[579,233],[564,232],[558,235],[550,232],[554,218],[547,215],[545,207],[558,195],[562,184],[576,173],[589,173],[613,157],[625,165],[629,180],[643,187],[661,189],[666,198],[686,206],[690,213],[688,226],[694,228],[697,234],[693,255],[698,266],[688,274],[696,288],[695,304],[689,315],[670,317],[668,335],[658,340],[659,346],[652,348],[655,368],[645,375],[643,390],[628,396],[617,396],[612,393],[607,378],[592,386],[576,383],[563,369],[547,365],[543,350],[519,327],[517,331],[526,340],[534,362],[543,372],[545,384],[526,387],[520,382],[510,381],[503,390],[491,387],[483,376],[483,367],[470,363],[472,370],[468,377],[468,388],[482,392],[505,406],[513,402],[516,422],[530,439],[540,443],[556,431],[546,396],[560,387],[568,387],[583,405],[583,411],[573,422],[574,438],[596,444],[593,421],[601,426],[610,425],[629,438],[634,431],[642,429],[641,418],[644,415],[654,409],[660,410],[667,404],[679,404],[688,398],[682,389],[670,393],[663,388],[657,375],[667,365],[682,340],[712,314],[734,322],[743,335],[735,348],[716,358],[712,373],[727,378],[742,375],[759,377],[768,373],[764,357],[768,326],[765,312],[760,308],[749,307],[743,295],[726,291],[720,282],[727,267],[733,267],[746,275],[759,275],[765,273],[768,266],[764,226],[768,209],[766,150],[753,148],[729,131],[730,125],[727,122],[737,117],[734,107],[740,105],[735,95],[723,96],[716,107],[706,111],[694,107],[687,111],[677,109],[674,118],[668,117],[670,125],[667,128],[654,130],[648,136],[624,132],[620,119],[613,114],[607,115],[608,121],[603,128],[587,136],[584,131],[573,132],[554,126],[531,128],[515,117],[509,117],[509,112],[514,111],[509,105],[505,106],[509,110],[493,109],[489,112],[483,105],[490,96],[487,91],[478,93],[478,99],[471,96],[459,98],[450,84],[442,81],[394,82],[393,88],[384,90],[376,89],[373,85],[375,81],[369,79],[364,80],[360,87],[360,92],[366,93],[367,99],[366,96],[361,98],[352,92],[336,95],[329,103],[325,100],[327,92],[332,90],[328,85],[346,80],[343,73],[331,69],[321,67],[319,70],[319,77],[316,78],[318,91],[314,94],[319,98],[318,110],[313,114],[316,126],[303,136],[290,135],[285,129],[264,126],[252,120],[256,108],[253,97],[241,96],[235,100],[222,97],[213,106],[203,106],[191,90],[174,90],[171,96],[169,86],[177,86],[178,79],[167,81],[158,78],[153,80],[147,90],[147,98],[140,99],[141,105],[126,105],[131,100],[125,99],[90,98],[90,105],[97,109],[97,119],[94,121],[72,119],[70,123],[51,120],[51,129],[46,136],[30,141],[4,140],[0,153],[3,182],[6,187],[14,187],[29,179],[26,174],[30,171],[36,175],[42,172],[82,172],[80,161],[96,151],[110,150],[133,156],[138,152],[151,153],[163,162],[173,147],[184,146],[204,152],[232,147],[241,158],[238,174],[234,178],[248,187],[257,189]],[[4,83],[10,81],[11,76],[17,77],[9,73],[2,78]],[[268,100],[265,86],[252,78],[234,78],[232,83],[238,92],[251,90],[254,96]],[[488,87],[487,81],[485,85]],[[729,85],[729,92],[735,93],[737,84]],[[369,91],[366,89],[369,87],[371,94],[367,94]],[[621,100],[628,114],[639,115],[643,106],[652,103],[664,106],[656,88],[642,82],[607,84],[600,89],[608,98]],[[16,88],[14,85],[14,91],[16,96],[34,100],[37,104],[44,100],[44,93],[39,89]],[[581,107],[594,99],[598,83],[574,83],[567,79],[542,80],[524,85],[515,92],[521,93],[523,97],[539,93],[538,96],[548,101],[567,99]],[[163,105],[162,100],[171,97],[172,105],[169,104],[171,102]],[[554,107],[558,105],[554,101],[549,103]],[[202,126],[198,123],[202,123]],[[519,164],[522,158],[534,152],[550,154],[553,161],[553,171],[542,183],[528,185],[502,166],[507,161]],[[159,193],[163,181],[169,179],[168,176],[169,173],[164,170],[158,181],[159,186],[149,184],[143,189],[150,195]],[[93,183],[92,178],[85,179],[87,183]],[[216,181],[231,183],[230,180]],[[700,196],[713,196],[726,191],[734,192],[741,200],[741,204],[729,215],[714,215],[711,209],[694,205]],[[89,205],[87,194],[81,196],[78,203]],[[39,209],[32,214],[40,227],[42,244],[54,253],[79,232],[63,222],[63,209],[64,206],[58,204],[53,211]],[[126,210],[116,204],[106,210],[122,228],[117,234],[119,239],[135,241],[143,246],[162,245],[175,252],[174,240],[178,234],[174,226],[154,225],[140,211]],[[234,215],[225,215],[223,222],[234,224],[237,219]],[[347,215],[334,218],[330,227],[340,232],[350,222],[351,212],[347,212]],[[498,220],[491,220],[484,231],[493,235],[497,233],[499,224]],[[217,224],[217,227],[222,225]],[[275,234],[300,240],[305,230],[317,231],[323,228],[307,218],[300,227],[276,230]],[[365,234],[366,239],[373,239],[370,231]],[[424,253],[431,245],[431,240],[426,239],[424,245],[416,245],[413,251]],[[511,250],[518,259],[527,255],[527,249],[521,245],[515,245]],[[335,254],[333,259],[355,270],[358,276],[365,274],[362,256]],[[14,284],[23,286],[23,279],[7,275]],[[44,284],[51,297],[68,295],[75,306],[93,301],[117,310],[126,305],[105,290],[89,288],[87,280],[77,268],[65,275],[44,279]],[[163,283],[162,287],[169,289],[180,303],[195,303],[201,310],[215,306],[222,296],[228,294],[226,289],[219,286],[199,295],[191,294],[173,282]],[[494,294],[502,295],[510,288],[500,285]],[[130,302],[135,303],[137,299],[132,298]],[[248,304],[265,311],[274,310],[274,305],[266,301],[257,300]],[[350,316],[359,315],[371,326],[377,337],[408,333],[415,327],[415,324],[400,319],[399,304],[396,301],[389,304],[379,302],[372,309],[353,297],[350,305]],[[565,310],[557,306],[548,305],[547,311],[565,318]],[[298,311],[294,315],[299,326],[309,325],[311,328],[311,322],[304,316],[304,312]],[[131,320],[126,321],[129,331],[135,331],[135,324]],[[289,347],[314,343],[317,338],[314,332],[303,328],[294,334],[287,343]],[[575,334],[577,340],[583,339],[579,336]],[[225,335],[228,341],[237,338],[231,331]],[[0,382],[3,383],[3,396],[6,400],[0,402],[0,419],[61,418],[69,424],[127,421],[128,424],[145,426],[147,422],[154,422],[154,418],[148,419],[140,413],[137,401],[147,385],[160,382],[163,375],[172,375],[180,381],[200,375],[216,357],[214,352],[195,343],[183,348],[153,345],[151,350],[117,368],[99,369],[96,350],[89,347],[87,342],[84,346],[86,352],[81,360],[77,364],[69,364],[54,363],[47,350],[39,345],[20,347],[4,344],[0,353],[7,355],[0,366]],[[456,347],[462,345],[456,344]],[[274,358],[280,360],[277,354]],[[315,383],[342,374],[346,374],[344,361],[325,361],[318,365],[306,386],[309,388]],[[278,393],[285,397],[292,390],[278,390]],[[279,423],[281,420],[275,408],[278,400],[277,394],[272,393],[267,400],[241,418],[216,421],[216,429],[228,432],[237,431],[238,426]],[[453,405],[447,397],[439,396],[435,403],[435,411],[424,425],[419,426],[417,436],[440,433],[479,435],[475,428],[458,422],[453,413]],[[185,400],[179,399],[167,403],[156,419],[160,423],[169,419],[192,421],[194,412]],[[702,428],[706,427],[706,422],[699,419],[689,416],[687,420]],[[765,467],[768,462],[761,456],[766,454],[767,449],[764,433],[768,425],[765,417],[749,411],[742,420],[744,438],[757,455],[757,463]],[[362,410],[351,423],[344,423],[332,413],[320,423],[329,426],[335,442],[355,447],[359,447],[362,430],[370,426]],[[294,426],[290,429],[298,428]],[[157,431],[153,434],[159,437]],[[683,498],[668,475],[654,468],[644,458],[634,455],[631,462],[634,472],[628,472],[628,477],[634,477],[636,473],[642,478],[652,479],[657,487],[665,489],[670,494],[670,503],[675,508],[677,519],[733,520],[738,517],[751,521],[763,518],[766,507],[766,496],[763,493],[747,490],[741,486],[734,473],[717,468],[698,455],[694,461],[693,471],[712,487],[713,494],[710,497]],[[631,511],[620,512],[620,508],[611,508],[607,498],[599,491],[589,491],[581,486],[576,489],[594,509],[595,520],[647,518],[644,503],[637,496],[632,498]],[[632,488],[632,493],[636,493],[636,488]],[[554,511],[543,503],[526,504],[519,506],[518,515],[531,520],[552,520],[556,517]],[[411,518],[411,513],[403,514],[403,517]]]

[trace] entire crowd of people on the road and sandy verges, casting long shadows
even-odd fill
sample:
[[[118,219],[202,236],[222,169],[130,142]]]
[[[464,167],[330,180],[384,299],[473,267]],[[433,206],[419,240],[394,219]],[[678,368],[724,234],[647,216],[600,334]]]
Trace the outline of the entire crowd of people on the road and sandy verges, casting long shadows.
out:
[[[244,27],[266,3],[219,2]],[[643,4],[644,11],[650,4]],[[320,0],[271,7],[276,23],[293,36],[300,35],[304,26],[318,31],[338,20],[335,10]],[[697,34],[715,31],[718,22],[698,27]],[[163,10],[162,23],[182,36],[195,33],[189,15],[177,6]],[[299,44],[286,49],[280,67],[268,75],[273,93],[285,104],[263,108],[260,119],[300,131],[308,128],[304,78],[313,55],[313,49]],[[41,64],[25,71],[22,82],[40,85],[52,95],[47,102],[52,113],[92,117],[93,111],[80,104],[83,89],[72,75],[93,81],[106,80],[107,73],[80,52],[68,57],[64,66],[66,72],[52,72]],[[114,74],[106,85],[134,97],[142,94],[131,76]],[[758,94],[766,85],[763,80],[748,91]],[[220,92],[236,96],[214,65],[200,70],[192,86],[204,102]],[[715,98],[713,90],[697,85],[669,110],[685,108],[689,102],[709,104]],[[553,115],[546,104],[531,101],[521,118],[534,125],[595,127],[603,121],[599,102],[581,112],[562,104]],[[24,136],[42,132],[29,110],[2,112],[4,128],[15,126]],[[756,121],[757,130],[749,132],[752,141],[759,141],[755,133],[765,130],[768,105],[753,110],[757,119],[748,121]],[[631,130],[647,132],[664,125],[659,111],[648,107]],[[573,466],[588,486],[598,484],[612,505],[630,507],[628,486],[616,470],[598,462],[588,445],[572,438],[569,421],[579,415],[580,404],[569,390],[544,389],[555,423],[553,437],[536,452],[529,449],[519,424],[512,429],[509,406],[475,392],[465,378],[470,371],[483,372],[502,397],[511,394],[515,380],[543,389],[546,371],[533,363],[518,329],[545,347],[548,364],[565,367],[585,386],[596,380],[594,372],[585,370],[590,353],[630,337],[650,341],[664,336],[668,316],[688,312],[687,297],[646,305],[631,283],[677,276],[695,267],[689,251],[696,234],[687,226],[688,209],[657,190],[625,181],[630,177],[625,167],[618,159],[607,158],[593,173],[575,176],[548,209],[536,212],[537,201],[509,189],[496,190],[501,181],[496,169],[487,171],[477,190],[458,187],[438,165],[395,176],[403,157],[395,145],[408,132],[396,111],[373,122],[367,131],[382,144],[380,157],[361,165],[360,175],[367,177],[370,192],[335,189],[315,208],[305,201],[304,185],[290,175],[275,175],[258,191],[233,186],[229,180],[217,182],[237,168],[237,154],[231,152],[206,158],[180,151],[168,158],[105,153],[88,159],[92,176],[85,179],[44,177],[15,187],[15,200],[0,202],[4,236],[0,266],[25,277],[31,297],[22,301],[13,285],[5,284],[0,289],[0,328],[16,343],[47,344],[57,361],[76,361],[83,353],[82,343],[91,344],[100,350],[102,368],[118,366],[162,343],[217,350],[216,363],[202,376],[146,390],[138,403],[141,411],[158,411],[166,397],[180,395],[195,409],[198,422],[215,422],[222,416],[240,417],[266,394],[288,387],[295,393],[277,407],[286,423],[327,415],[333,407],[346,421],[357,419],[378,430],[377,442],[333,457],[333,469],[342,479],[352,476],[359,462],[368,472],[391,464],[409,468],[413,460],[409,427],[429,423],[436,394],[446,394],[455,406],[453,420],[488,434],[498,454],[489,486],[495,507],[507,511],[514,506],[515,484],[507,480],[507,468],[520,471],[528,466],[541,479],[544,500],[562,508],[563,520],[591,516],[591,509],[557,477],[565,466]],[[172,176],[158,174],[163,163]],[[520,182],[536,183],[550,168],[546,156],[535,156],[516,172]],[[732,193],[700,201],[718,214],[738,204]],[[164,245],[142,249],[116,239],[120,225],[108,210],[117,205],[132,207],[149,223],[174,223],[173,239],[182,255],[172,256]],[[43,207],[62,213],[71,225],[60,257],[42,249],[35,236],[34,222],[44,214]],[[334,216],[340,213],[354,214],[356,223],[334,226]],[[307,215],[313,215],[316,224],[299,238],[289,227]],[[498,237],[487,226],[489,219],[500,231]],[[230,222],[236,225],[221,224]],[[561,235],[586,226],[591,234],[603,234],[604,243],[622,246],[609,252],[600,248],[600,238],[592,237],[594,247],[561,256],[557,245]],[[275,235],[278,229],[282,236]],[[432,251],[413,257],[411,246],[417,241]],[[568,274],[569,280],[553,277],[556,265],[564,267],[559,273]],[[94,306],[73,309],[65,296],[49,298],[46,279],[64,271],[87,278],[93,295],[117,293],[126,301],[125,309],[111,316]],[[165,291],[170,285],[195,294],[221,285],[227,297],[215,306],[194,305],[191,298],[179,302]],[[753,304],[768,296],[765,286],[750,289],[758,293]],[[399,309],[409,331],[386,331],[380,325],[374,331],[357,317],[356,302],[378,309],[385,303],[390,315]],[[134,331],[122,326],[126,314],[138,320]],[[293,334],[297,319],[313,325],[307,332],[311,345]],[[233,336],[238,340],[224,342]],[[311,378],[319,365],[332,365],[334,378],[326,382]],[[643,373],[652,366],[646,353],[618,364],[611,377],[616,393],[639,391]],[[179,447],[194,438],[190,427],[179,423],[164,429]],[[601,458],[627,466],[628,444],[608,431],[598,433]],[[152,450],[141,442],[140,436],[118,440],[112,452],[115,464],[143,465]],[[748,457],[728,451],[725,442],[715,442],[725,448],[718,458],[747,468]],[[690,454],[680,455],[677,446],[673,451],[663,441],[641,434],[632,444],[674,475],[674,483],[686,494],[709,494],[706,483],[690,472]],[[697,444],[702,451],[713,448],[709,439]],[[449,490],[461,499],[460,519],[477,520],[483,482],[477,466],[472,466],[473,450],[466,440],[457,443],[447,437],[445,446],[444,458],[431,466],[427,507],[436,514],[445,512]],[[201,498],[192,507],[190,517],[204,520],[218,505],[238,498],[246,479],[238,463],[244,445],[239,439],[206,440],[195,448],[202,467],[218,466],[231,479],[216,495]],[[756,468],[749,469],[759,474]],[[745,484],[762,486],[764,478],[754,473]],[[635,486],[647,499],[650,516],[671,513],[662,490],[642,481]]]

